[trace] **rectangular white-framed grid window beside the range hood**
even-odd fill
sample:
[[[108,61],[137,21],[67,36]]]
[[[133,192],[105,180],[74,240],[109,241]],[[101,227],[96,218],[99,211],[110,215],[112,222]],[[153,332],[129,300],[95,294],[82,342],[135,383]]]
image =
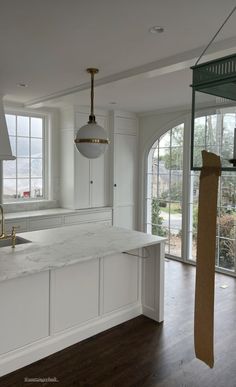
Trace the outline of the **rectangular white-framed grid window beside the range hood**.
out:
[[[14,161],[3,162],[3,201],[45,198],[44,117],[6,114]]]

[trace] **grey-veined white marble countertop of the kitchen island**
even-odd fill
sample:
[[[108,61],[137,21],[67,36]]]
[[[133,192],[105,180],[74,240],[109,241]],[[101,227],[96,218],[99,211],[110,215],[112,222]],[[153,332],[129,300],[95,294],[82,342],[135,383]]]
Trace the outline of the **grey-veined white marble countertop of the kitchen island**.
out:
[[[21,233],[31,243],[0,248],[0,281],[154,245],[166,238],[119,227],[76,225]]]

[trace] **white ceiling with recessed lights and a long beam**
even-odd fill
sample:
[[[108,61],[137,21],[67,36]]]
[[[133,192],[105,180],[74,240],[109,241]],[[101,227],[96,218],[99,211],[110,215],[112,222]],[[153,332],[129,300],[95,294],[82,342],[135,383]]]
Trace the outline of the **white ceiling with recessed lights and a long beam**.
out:
[[[0,5],[0,90],[6,101],[89,104],[85,70],[98,67],[96,106],[144,112],[190,102],[189,66],[235,0],[0,0]],[[236,52],[235,21],[236,12],[209,53]],[[150,34],[153,25],[165,32]],[[19,82],[28,87],[17,87]]]

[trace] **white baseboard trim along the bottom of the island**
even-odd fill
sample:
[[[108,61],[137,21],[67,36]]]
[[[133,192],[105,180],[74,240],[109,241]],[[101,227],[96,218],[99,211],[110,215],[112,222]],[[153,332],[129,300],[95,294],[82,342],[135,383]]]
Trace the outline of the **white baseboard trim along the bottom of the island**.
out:
[[[139,303],[132,304],[126,308],[86,322],[85,324],[67,329],[66,331],[48,336],[17,350],[5,353],[0,356],[0,376],[16,371],[19,368],[61,351],[70,345],[137,317],[140,314],[142,314],[141,305]]]

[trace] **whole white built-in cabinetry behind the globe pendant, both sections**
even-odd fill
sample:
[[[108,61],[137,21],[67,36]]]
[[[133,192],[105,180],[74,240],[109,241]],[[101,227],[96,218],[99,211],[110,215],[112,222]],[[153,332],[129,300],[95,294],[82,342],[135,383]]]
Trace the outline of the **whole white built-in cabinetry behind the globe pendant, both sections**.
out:
[[[61,206],[71,209],[113,207],[113,225],[136,229],[137,138],[135,114],[96,111],[96,120],[111,140],[107,152],[89,160],[75,148],[76,131],[89,109],[61,110]]]

